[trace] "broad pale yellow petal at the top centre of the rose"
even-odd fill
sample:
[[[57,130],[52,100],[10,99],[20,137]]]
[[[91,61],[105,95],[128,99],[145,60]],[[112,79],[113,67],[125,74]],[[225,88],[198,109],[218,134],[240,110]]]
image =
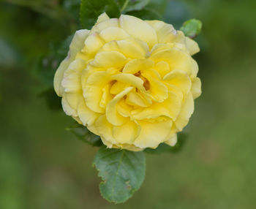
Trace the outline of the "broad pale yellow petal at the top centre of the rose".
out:
[[[132,37],[147,42],[149,47],[157,44],[157,34],[154,28],[139,18],[129,15],[121,15],[119,18],[121,28],[127,31]]]

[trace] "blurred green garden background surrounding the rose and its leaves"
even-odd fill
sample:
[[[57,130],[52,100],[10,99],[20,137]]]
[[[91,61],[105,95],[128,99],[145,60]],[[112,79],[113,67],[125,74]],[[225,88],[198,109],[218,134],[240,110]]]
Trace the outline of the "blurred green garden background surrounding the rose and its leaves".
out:
[[[202,20],[203,94],[183,150],[147,154],[143,186],[113,205],[91,167],[97,148],[65,130],[72,118],[50,97],[79,1],[0,2],[0,208],[256,208],[256,1],[154,3],[176,28]]]

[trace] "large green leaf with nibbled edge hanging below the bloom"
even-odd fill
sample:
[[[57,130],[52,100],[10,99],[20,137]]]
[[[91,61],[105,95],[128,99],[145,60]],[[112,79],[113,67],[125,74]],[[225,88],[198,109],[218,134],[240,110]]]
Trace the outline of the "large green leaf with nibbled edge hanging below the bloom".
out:
[[[109,202],[127,201],[140,189],[146,172],[143,152],[99,148],[93,165],[99,171],[102,182],[99,190]]]

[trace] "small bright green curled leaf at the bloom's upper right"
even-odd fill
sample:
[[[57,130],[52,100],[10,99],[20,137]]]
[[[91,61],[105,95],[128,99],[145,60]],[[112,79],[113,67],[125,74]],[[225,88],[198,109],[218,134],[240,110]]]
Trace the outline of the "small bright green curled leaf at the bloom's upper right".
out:
[[[202,25],[203,24],[200,20],[196,20],[196,19],[187,20],[181,26],[181,31],[183,31],[187,37],[194,39],[195,37],[197,37],[198,34],[200,34]]]

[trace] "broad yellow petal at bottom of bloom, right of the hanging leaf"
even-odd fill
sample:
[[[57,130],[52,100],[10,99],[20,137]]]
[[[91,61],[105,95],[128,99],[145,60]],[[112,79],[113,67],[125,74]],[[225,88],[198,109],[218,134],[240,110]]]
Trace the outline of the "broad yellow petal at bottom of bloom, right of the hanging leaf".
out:
[[[170,133],[170,127],[173,122],[167,121],[138,121],[141,131],[139,137],[134,144],[139,148],[156,148],[159,143],[164,142],[167,135]]]

